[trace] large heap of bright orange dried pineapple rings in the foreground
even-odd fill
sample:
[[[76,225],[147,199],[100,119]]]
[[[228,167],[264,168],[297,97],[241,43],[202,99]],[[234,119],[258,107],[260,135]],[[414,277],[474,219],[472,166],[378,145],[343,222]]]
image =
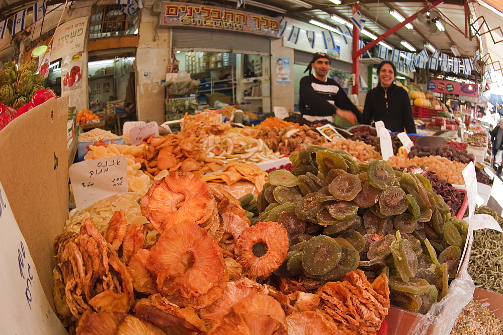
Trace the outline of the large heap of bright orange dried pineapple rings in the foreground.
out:
[[[118,210],[102,234],[88,218],[56,237],[54,301],[70,333],[370,334],[388,313],[384,273],[370,284],[349,272],[316,293],[255,281],[287,257],[287,230],[250,226],[235,198],[191,173],[155,181],[140,206],[148,224]]]

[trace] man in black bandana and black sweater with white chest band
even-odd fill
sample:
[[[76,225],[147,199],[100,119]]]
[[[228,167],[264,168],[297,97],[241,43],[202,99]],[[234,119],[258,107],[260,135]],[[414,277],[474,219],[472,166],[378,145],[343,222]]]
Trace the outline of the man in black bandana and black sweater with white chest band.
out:
[[[311,74],[311,69],[314,73]],[[362,113],[349,100],[341,86],[333,79],[327,78],[330,70],[330,59],[324,52],[316,52],[306,71],[309,75],[300,79],[299,109],[308,121],[332,121],[334,114],[356,124]]]

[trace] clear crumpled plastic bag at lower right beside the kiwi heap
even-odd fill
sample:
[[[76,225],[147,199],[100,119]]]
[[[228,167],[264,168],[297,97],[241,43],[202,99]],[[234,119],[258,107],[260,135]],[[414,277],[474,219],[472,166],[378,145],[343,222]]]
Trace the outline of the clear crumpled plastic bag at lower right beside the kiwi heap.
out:
[[[460,271],[451,282],[449,293],[440,302],[434,303],[430,311],[410,327],[408,334],[449,335],[459,313],[473,299],[474,291],[475,284],[468,272]]]

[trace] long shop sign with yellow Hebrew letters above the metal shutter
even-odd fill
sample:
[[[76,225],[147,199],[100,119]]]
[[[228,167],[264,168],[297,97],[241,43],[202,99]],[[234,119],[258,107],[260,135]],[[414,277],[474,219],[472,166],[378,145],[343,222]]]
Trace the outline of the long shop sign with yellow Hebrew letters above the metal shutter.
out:
[[[280,21],[269,16],[230,8],[163,2],[159,16],[162,27],[198,27],[281,37]]]

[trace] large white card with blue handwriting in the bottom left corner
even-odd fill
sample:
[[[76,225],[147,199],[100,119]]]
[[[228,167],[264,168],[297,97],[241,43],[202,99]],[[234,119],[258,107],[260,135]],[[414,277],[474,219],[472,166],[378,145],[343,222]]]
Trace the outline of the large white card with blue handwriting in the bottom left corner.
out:
[[[3,334],[68,334],[52,311],[0,183],[0,324]]]

